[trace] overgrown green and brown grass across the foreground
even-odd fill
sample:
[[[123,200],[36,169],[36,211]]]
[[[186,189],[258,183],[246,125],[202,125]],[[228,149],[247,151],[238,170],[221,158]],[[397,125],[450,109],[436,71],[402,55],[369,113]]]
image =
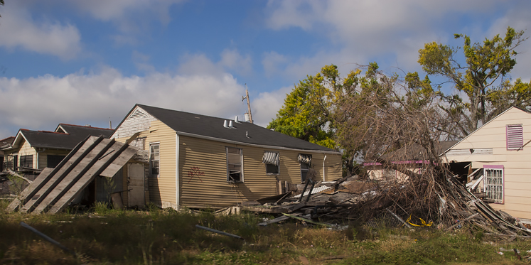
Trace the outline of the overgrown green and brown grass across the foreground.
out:
[[[512,251],[531,242],[505,244],[461,229],[366,227],[343,231],[307,227],[295,220],[258,227],[251,213],[131,211],[96,205],[82,215],[6,214],[0,207],[0,264],[518,264]],[[63,252],[19,225],[23,221],[77,253]],[[195,228],[211,227],[245,241]],[[336,258],[336,259],[332,259]],[[338,259],[340,258],[340,259]]]

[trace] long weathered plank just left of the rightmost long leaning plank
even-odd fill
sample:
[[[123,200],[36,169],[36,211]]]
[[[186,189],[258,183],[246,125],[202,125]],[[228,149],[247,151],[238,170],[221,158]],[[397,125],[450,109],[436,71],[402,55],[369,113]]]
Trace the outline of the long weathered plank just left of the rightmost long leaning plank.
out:
[[[103,139],[100,143],[96,144],[92,150],[87,153],[80,163],[74,167],[68,175],[66,175],[62,180],[59,180],[60,183],[50,190],[50,193],[45,196],[39,205],[33,210],[34,214],[39,214],[43,212],[47,207],[53,205],[66,191],[72,187],[81,176],[89,170],[89,168],[97,161],[97,158],[100,158],[105,152],[111,148],[114,144],[114,140]]]

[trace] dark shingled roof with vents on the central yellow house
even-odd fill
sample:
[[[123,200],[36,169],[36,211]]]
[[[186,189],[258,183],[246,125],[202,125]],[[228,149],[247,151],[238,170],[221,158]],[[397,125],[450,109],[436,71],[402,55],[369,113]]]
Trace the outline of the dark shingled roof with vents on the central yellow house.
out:
[[[256,124],[240,121],[233,122],[236,129],[227,129],[223,126],[225,120],[189,112],[179,112],[171,109],[162,109],[136,104],[159,121],[177,132],[208,136],[216,139],[237,141],[244,144],[263,146],[278,146],[313,151],[334,151],[331,148],[312,144],[308,141],[297,139],[277,131],[266,129]],[[134,108],[133,108],[134,109]],[[249,137],[247,137],[249,136]]]

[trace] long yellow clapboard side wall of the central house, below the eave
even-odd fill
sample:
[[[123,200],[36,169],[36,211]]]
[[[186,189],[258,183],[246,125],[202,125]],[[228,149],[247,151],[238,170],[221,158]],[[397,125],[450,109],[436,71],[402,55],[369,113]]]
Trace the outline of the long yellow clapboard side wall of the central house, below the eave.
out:
[[[242,148],[243,183],[227,183],[225,147]],[[262,163],[264,151],[279,152],[279,174],[268,175]],[[317,180],[323,180],[323,153],[259,148],[179,136],[181,206],[225,207],[247,200],[277,195],[277,182],[301,183],[299,153],[312,155]],[[341,177],[341,156],[326,154],[326,180]]]

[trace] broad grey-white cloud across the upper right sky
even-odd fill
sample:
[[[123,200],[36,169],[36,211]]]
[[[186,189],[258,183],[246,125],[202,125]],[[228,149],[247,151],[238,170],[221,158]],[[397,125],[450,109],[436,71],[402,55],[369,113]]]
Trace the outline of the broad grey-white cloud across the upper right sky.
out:
[[[510,20],[510,25],[515,27],[520,24],[527,26],[530,23],[527,19],[530,9],[522,8],[522,5],[530,6],[520,1],[520,4],[513,5],[514,11],[507,11],[500,19]],[[267,27],[274,31],[300,28],[313,37],[327,39],[338,48],[320,49],[312,55],[294,58],[284,65],[285,69],[281,68],[283,65],[272,63],[274,61],[263,61],[262,64],[268,71],[273,69],[286,75],[291,73],[293,77],[300,77],[301,70],[316,69],[325,64],[368,64],[373,60],[380,65],[418,71],[418,50],[424,43],[445,43],[453,38],[453,33],[472,35],[471,31],[474,36],[481,37],[479,40],[492,36],[485,28],[490,25],[499,27],[496,26],[499,21],[474,21],[474,18],[500,16],[497,12],[506,11],[501,7],[503,4],[492,0],[270,0],[264,11]],[[488,27],[485,23],[488,23]],[[505,24],[502,33],[507,27]]]

